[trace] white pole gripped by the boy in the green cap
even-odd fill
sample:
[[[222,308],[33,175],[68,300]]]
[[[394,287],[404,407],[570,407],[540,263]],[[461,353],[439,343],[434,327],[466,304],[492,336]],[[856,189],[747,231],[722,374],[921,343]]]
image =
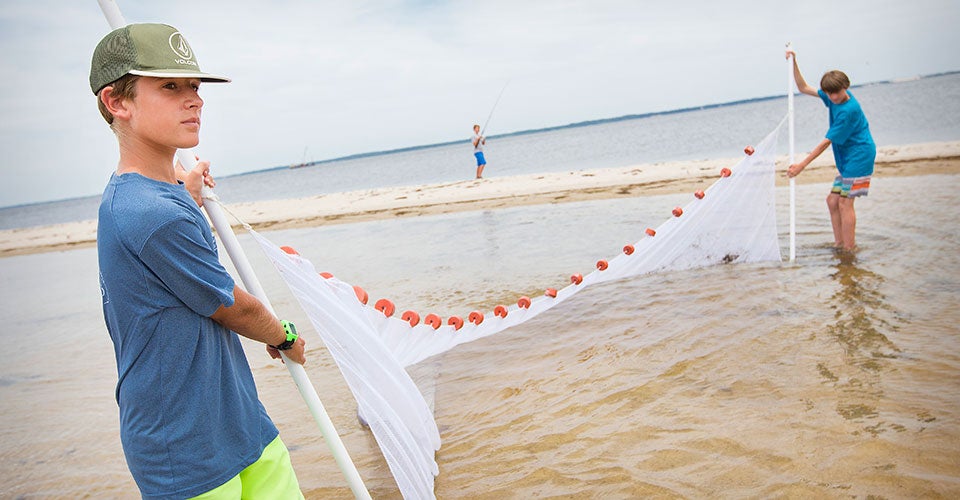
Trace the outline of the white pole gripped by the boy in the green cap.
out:
[[[103,15],[107,18],[110,29],[122,28],[127,25],[123,14],[120,12],[120,6],[117,5],[115,0],[97,0],[97,3],[100,4],[100,10],[103,11]],[[190,150],[178,149],[177,159],[180,160],[180,163],[188,171],[193,170],[197,165],[196,157]],[[204,203],[203,208],[210,217],[210,221],[213,222],[213,226],[217,229],[217,235],[220,236],[220,241],[223,242],[223,246],[233,261],[234,267],[236,267],[237,273],[240,275],[240,279],[243,281],[247,291],[257,297],[271,314],[276,315],[266,291],[263,289],[260,280],[253,271],[253,266],[250,265],[250,261],[247,260],[247,255],[240,246],[240,241],[237,240],[237,235],[234,234],[233,228],[230,227],[230,222],[223,213],[219,199],[213,193],[213,190],[207,186],[203,186],[201,196],[211,201],[211,203]],[[343,475],[346,477],[347,483],[350,485],[350,490],[353,491],[353,495],[356,498],[369,499],[370,493],[364,486],[363,479],[360,478],[360,473],[357,472],[353,461],[350,460],[347,448],[343,445],[340,435],[337,434],[337,430],[333,426],[333,421],[330,420],[330,415],[328,415],[326,409],[324,409],[323,402],[320,401],[317,390],[314,389],[313,383],[310,382],[310,379],[307,377],[307,372],[303,369],[303,365],[290,361],[283,351],[280,351],[280,354],[283,356],[284,366],[287,367],[287,371],[290,372],[290,376],[293,377],[293,381],[300,391],[300,396],[303,397],[314,420],[316,420],[317,425],[320,426],[320,433],[323,434],[323,439],[327,442],[327,446],[330,448],[334,460],[340,467],[340,471],[343,472]]]

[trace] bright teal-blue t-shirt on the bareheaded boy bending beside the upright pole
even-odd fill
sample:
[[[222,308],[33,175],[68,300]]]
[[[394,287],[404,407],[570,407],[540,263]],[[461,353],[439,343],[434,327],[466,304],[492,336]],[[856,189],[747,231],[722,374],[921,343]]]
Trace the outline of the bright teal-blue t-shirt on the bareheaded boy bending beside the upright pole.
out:
[[[830,139],[833,159],[842,177],[873,175],[873,162],[877,158],[877,145],[870,135],[870,124],[860,109],[860,102],[849,90],[850,99],[834,104],[823,90],[818,90],[820,100],[830,110]]]

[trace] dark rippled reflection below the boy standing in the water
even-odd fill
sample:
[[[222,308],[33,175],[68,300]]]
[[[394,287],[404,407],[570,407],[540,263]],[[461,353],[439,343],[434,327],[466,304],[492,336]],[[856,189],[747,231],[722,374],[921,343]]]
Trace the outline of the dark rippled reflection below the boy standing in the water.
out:
[[[880,292],[883,276],[860,267],[855,254],[838,254],[836,272],[830,276],[840,285],[830,299],[836,322],[827,332],[844,351],[842,373],[834,374],[824,363],[820,374],[840,389],[837,413],[847,420],[876,419],[883,397],[881,376],[888,369],[887,361],[900,350],[884,334],[896,326],[883,318],[890,311],[886,297]],[[871,434],[883,431],[883,422],[865,427]]]

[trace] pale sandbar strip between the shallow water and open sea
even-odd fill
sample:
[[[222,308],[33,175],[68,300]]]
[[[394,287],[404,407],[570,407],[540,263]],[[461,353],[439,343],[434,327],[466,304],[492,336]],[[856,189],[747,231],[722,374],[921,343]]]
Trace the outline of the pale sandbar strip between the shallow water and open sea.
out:
[[[806,152],[798,152],[802,158]],[[223,200],[235,227],[289,229],[466,210],[634,197],[694,191],[709,186],[721,168],[738,158],[666,162],[452,183],[351,191],[308,198],[231,204]],[[777,160],[778,170],[787,165]],[[960,173],[960,141],[881,147],[874,176]],[[798,176],[797,183],[829,182],[836,175],[827,151]],[[786,185],[785,177],[778,184]],[[92,246],[96,220],[0,231],[0,257]]]

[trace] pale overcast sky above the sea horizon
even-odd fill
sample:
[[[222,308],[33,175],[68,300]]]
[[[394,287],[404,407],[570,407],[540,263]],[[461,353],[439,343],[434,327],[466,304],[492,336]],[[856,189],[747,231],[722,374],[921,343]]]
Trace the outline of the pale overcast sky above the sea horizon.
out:
[[[180,29],[205,84],[215,175],[782,94],[783,47],[808,79],[960,70],[956,0],[119,0]],[[0,3],[0,206],[98,194],[116,141],[90,55],[94,0]],[[509,83],[508,83],[509,82]]]

